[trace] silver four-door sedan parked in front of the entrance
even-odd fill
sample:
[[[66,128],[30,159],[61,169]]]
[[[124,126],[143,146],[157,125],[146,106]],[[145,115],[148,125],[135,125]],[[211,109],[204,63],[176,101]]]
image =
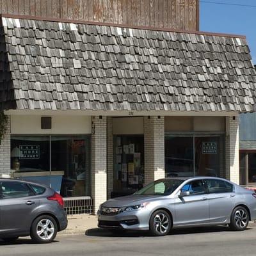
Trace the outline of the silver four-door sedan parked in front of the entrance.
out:
[[[133,195],[104,202],[98,211],[99,227],[150,230],[155,236],[200,225],[245,230],[255,219],[255,192],[216,177],[156,180]]]

